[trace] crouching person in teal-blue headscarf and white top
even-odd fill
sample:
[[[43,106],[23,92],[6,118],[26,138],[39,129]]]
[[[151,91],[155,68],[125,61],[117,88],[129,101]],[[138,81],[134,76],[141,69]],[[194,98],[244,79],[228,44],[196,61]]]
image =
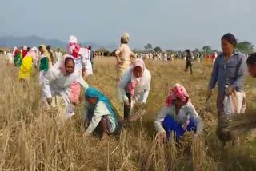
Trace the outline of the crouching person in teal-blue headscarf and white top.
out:
[[[94,129],[98,129],[102,134],[102,140],[105,140],[118,128],[118,117],[114,108],[109,98],[93,87],[86,89],[85,97],[83,113],[88,128],[84,135],[87,137],[94,132]]]

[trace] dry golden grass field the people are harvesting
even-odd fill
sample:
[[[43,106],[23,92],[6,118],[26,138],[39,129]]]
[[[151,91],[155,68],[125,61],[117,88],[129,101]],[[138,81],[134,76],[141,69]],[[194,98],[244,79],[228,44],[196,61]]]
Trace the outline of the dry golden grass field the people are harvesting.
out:
[[[116,93],[114,58],[96,58],[96,74],[88,83],[101,89],[122,113]],[[42,113],[38,73],[29,84],[18,82],[18,69],[0,56],[0,170],[255,170],[254,133],[241,145],[222,149],[217,139],[215,97],[206,112],[206,88],[211,64],[194,63],[194,74],[184,73],[185,62],[147,61],[152,74],[148,111],[142,122],[122,129],[109,141],[83,137],[82,104],[64,126]],[[190,93],[205,129],[196,140],[159,145],[154,139],[154,116],[164,105],[171,85],[181,83]],[[256,88],[246,79],[248,109],[254,109]],[[256,109],[254,109],[256,111]]]

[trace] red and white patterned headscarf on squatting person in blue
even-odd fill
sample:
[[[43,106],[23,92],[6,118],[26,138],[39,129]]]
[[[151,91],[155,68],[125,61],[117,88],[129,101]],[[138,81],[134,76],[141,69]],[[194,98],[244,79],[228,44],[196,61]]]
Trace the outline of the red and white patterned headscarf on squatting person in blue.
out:
[[[175,84],[173,88],[170,89],[170,93],[166,97],[166,106],[170,107],[173,105],[173,101],[179,97],[182,101],[189,101],[189,94],[186,92],[186,89],[183,85]]]

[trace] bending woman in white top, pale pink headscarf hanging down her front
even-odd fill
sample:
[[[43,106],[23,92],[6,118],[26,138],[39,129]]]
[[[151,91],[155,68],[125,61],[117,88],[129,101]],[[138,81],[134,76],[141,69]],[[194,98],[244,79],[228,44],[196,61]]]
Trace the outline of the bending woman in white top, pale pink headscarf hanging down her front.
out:
[[[138,113],[141,116],[132,116],[133,119],[131,120],[130,114],[133,112],[135,104],[146,104],[150,93],[150,83],[150,71],[146,69],[142,59],[136,59],[134,66],[126,70],[119,83],[122,100],[124,101],[124,121],[138,121],[141,119],[144,113]]]

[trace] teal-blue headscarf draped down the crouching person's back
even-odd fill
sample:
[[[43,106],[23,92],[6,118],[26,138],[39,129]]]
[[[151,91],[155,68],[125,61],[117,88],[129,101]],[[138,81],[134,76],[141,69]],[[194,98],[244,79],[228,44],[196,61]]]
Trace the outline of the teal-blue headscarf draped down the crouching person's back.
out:
[[[118,125],[118,117],[117,117],[116,113],[114,113],[113,106],[111,105],[111,102],[110,102],[108,97],[106,97],[103,93],[98,91],[98,89],[95,89],[93,87],[88,87],[86,89],[85,96],[86,96],[86,98],[97,97],[98,101],[102,101],[106,105],[106,108],[109,110],[111,117],[114,118],[114,122],[115,122],[115,125],[117,127],[117,125]],[[94,105],[94,109],[95,109],[95,105]],[[93,109],[92,112],[94,112],[94,109]]]

